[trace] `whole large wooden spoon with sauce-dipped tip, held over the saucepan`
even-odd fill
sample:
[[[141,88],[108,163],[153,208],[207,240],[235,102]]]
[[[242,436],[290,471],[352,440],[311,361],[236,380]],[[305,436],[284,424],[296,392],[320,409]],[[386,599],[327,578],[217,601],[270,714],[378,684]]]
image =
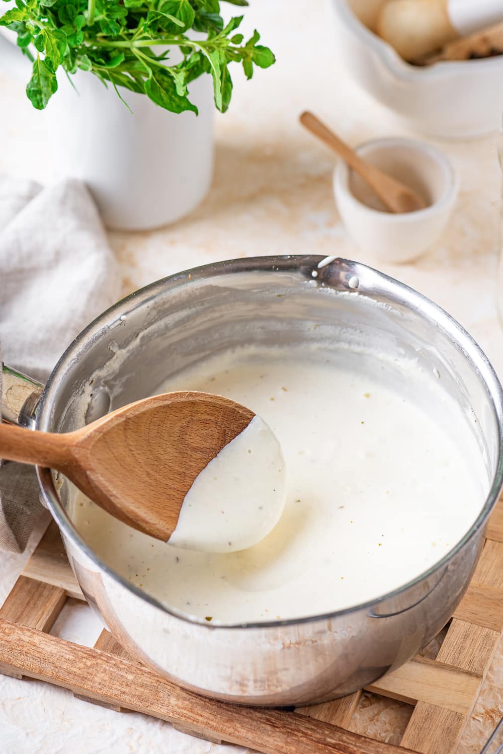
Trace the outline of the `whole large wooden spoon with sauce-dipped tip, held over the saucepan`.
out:
[[[208,393],[145,398],[62,434],[0,422],[0,458],[60,471],[112,516],[157,539],[168,541],[180,523],[170,544],[194,550],[250,547],[285,503],[273,432],[250,409]]]

